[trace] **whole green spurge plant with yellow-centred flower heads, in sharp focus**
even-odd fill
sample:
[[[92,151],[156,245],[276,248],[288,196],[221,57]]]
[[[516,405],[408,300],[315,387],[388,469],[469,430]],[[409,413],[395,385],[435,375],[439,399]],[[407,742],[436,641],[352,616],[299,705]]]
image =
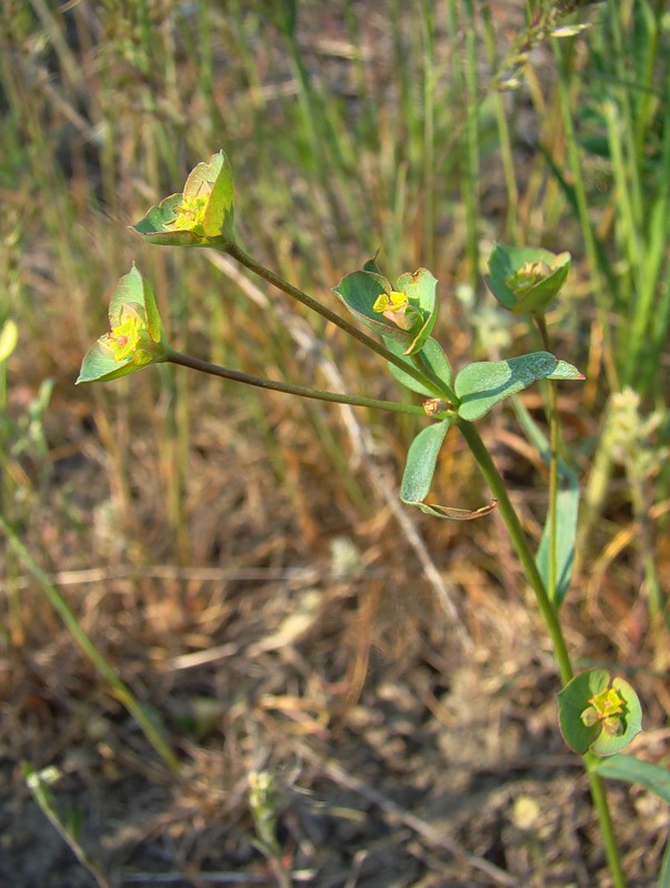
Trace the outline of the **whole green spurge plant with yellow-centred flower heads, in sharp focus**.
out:
[[[496,248],[489,263],[487,284],[506,309],[514,314],[531,316],[538,326],[543,349],[503,361],[476,362],[462,367],[454,376],[442,346],[431,336],[439,303],[438,281],[430,271],[419,269],[408,272],[391,283],[382,274],[374,256],[361,270],[347,274],[337,284],[336,295],[356,322],[378,336],[372,337],[266,269],[237,244],[233,181],[223,151],[214,154],[209,162],[199,163],[188,176],[181,193],[151,208],[132,228],[156,244],[203,246],[230,254],[250,271],[382,356],[393,377],[420,395],[422,402],[406,404],[324,392],[286,381],[252,376],[177,352],[166,340],[151,287],[134,265],[121,279],[112,296],[110,332],[102,335],[86,355],[78,382],[109,381],[152,363],[171,362],[303,397],[429,418],[429,424],[418,432],[409,448],[400,497],[408,505],[430,515],[456,521],[481,518],[493,508],[499,508],[553,644],[562,685],[558,695],[561,730],[566,741],[583,756],[613,884],[617,888],[624,886],[600,773],[648,786],[654,783],[656,775],[656,781],[661,787],[656,791],[668,798],[670,790],[667,789],[667,779],[663,781],[659,776],[666,775],[666,771],[620,755],[620,750],[641,729],[640,706],[634,690],[627,682],[612,678],[604,670],[589,670],[574,677],[559,619],[560,606],[570,585],[579,491],[573,472],[559,455],[560,428],[553,383],[579,381],[583,376],[572,364],[551,353],[546,312],[568,278],[570,255],[554,255],[531,248]],[[522,406],[516,404],[523,431],[549,465],[547,522],[539,549],[533,553],[474,423],[496,404],[513,397],[539,380],[550,382],[549,442]],[[477,509],[426,502],[440,450],[452,427],[463,435],[493,495],[491,503]]]

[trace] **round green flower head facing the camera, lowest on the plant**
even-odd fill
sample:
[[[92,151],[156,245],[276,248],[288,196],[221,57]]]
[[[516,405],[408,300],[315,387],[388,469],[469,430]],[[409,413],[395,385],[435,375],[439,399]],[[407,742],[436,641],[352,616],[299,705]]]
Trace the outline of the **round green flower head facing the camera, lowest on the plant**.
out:
[[[589,669],[558,694],[559,724],[568,746],[583,755],[613,756],[642,729],[638,695],[607,669]]]

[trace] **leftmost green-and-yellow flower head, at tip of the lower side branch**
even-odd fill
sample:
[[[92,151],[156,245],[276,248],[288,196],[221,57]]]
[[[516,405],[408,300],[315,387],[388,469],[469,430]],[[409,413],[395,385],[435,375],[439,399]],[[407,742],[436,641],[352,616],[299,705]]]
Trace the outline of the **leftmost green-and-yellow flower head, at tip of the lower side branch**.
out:
[[[156,296],[134,263],[113,292],[109,323],[110,332],[86,354],[78,383],[118,380],[168,360],[170,346]]]

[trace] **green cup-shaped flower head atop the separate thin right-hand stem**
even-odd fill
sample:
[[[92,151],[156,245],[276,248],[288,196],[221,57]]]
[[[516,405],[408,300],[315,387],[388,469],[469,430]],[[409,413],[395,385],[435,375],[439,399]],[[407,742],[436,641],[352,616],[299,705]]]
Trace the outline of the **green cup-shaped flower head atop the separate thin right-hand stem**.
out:
[[[570,273],[570,253],[498,244],[489,259],[487,286],[514,314],[544,314]]]

